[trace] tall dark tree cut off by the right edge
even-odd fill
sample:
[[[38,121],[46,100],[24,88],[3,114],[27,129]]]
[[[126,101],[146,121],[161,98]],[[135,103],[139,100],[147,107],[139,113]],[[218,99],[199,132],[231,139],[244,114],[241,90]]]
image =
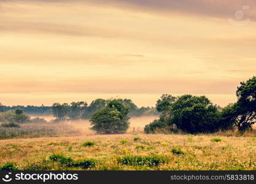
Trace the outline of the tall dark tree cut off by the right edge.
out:
[[[238,101],[224,108],[222,119],[233,123],[243,134],[251,131],[252,125],[256,123],[256,77],[240,84],[236,91]]]

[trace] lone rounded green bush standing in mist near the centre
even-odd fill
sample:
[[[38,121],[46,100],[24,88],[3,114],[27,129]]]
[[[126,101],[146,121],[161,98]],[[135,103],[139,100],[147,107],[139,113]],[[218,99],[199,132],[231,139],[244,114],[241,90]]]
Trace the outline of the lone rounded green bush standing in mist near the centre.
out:
[[[106,107],[99,109],[91,116],[90,122],[98,134],[122,134],[130,126],[127,116],[130,108],[121,99],[107,101]]]

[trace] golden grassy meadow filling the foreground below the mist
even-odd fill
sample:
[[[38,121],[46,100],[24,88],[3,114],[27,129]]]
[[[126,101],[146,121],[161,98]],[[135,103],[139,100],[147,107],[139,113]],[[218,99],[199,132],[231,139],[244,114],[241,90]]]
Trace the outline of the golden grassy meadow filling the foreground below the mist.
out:
[[[51,161],[53,154],[95,164],[68,166]],[[9,162],[20,170],[256,170],[256,138],[130,133],[0,140],[0,166]]]

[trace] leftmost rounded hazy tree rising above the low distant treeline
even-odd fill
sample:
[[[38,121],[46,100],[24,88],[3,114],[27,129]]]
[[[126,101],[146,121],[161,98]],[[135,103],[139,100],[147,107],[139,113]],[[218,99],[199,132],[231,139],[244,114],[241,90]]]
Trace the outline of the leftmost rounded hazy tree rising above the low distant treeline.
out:
[[[53,117],[56,117],[57,120],[65,120],[68,116],[69,105],[67,103],[59,104],[54,103],[52,105]]]

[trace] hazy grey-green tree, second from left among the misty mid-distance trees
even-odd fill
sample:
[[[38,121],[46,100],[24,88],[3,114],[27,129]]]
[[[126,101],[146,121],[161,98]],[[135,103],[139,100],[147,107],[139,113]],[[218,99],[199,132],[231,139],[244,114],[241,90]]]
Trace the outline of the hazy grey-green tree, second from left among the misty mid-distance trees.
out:
[[[87,102],[72,102],[69,107],[69,118],[71,120],[78,120],[82,117],[82,113],[87,109]]]

